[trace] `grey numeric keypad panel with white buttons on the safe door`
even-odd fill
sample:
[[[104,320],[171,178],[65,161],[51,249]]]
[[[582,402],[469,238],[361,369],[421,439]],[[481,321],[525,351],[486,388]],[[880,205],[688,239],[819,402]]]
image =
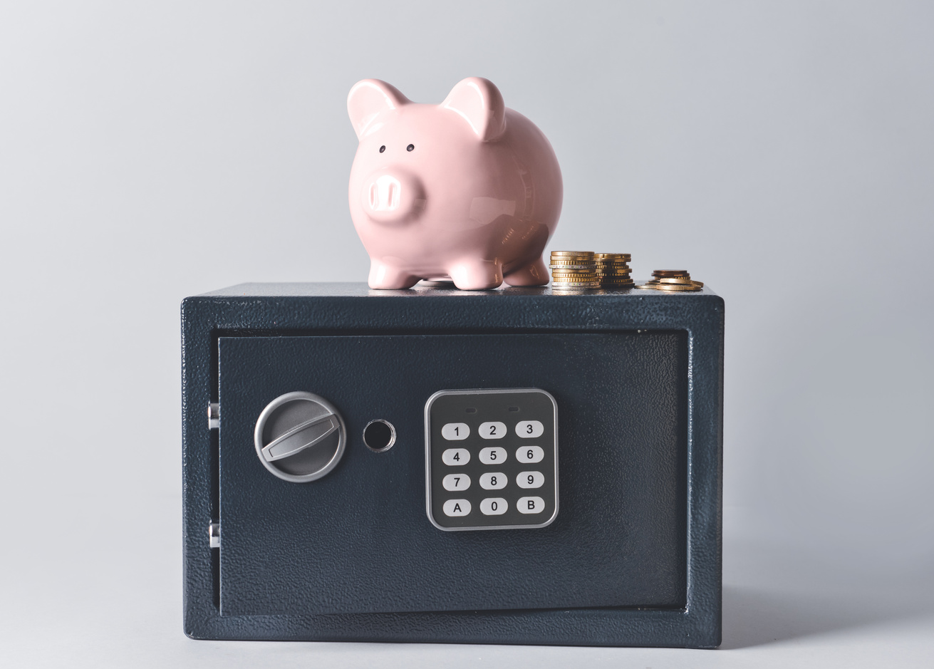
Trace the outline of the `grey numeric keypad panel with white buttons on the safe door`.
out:
[[[557,517],[558,406],[548,392],[436,392],[425,439],[428,515],[439,529],[536,528]]]

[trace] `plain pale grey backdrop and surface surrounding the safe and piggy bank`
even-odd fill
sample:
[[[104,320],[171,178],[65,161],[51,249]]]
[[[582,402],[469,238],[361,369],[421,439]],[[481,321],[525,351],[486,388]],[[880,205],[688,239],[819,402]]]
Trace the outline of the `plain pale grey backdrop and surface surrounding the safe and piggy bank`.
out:
[[[724,649],[193,642],[178,304],[363,280],[345,100],[482,76],[559,156],[549,249],[727,301]],[[934,7],[0,6],[9,666],[934,662]]]

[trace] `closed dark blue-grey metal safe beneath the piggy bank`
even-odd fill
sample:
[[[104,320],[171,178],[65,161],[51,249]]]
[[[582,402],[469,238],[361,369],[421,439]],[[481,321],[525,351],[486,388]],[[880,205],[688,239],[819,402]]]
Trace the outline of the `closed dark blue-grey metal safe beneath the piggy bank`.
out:
[[[182,303],[185,632],[720,643],[723,300]]]

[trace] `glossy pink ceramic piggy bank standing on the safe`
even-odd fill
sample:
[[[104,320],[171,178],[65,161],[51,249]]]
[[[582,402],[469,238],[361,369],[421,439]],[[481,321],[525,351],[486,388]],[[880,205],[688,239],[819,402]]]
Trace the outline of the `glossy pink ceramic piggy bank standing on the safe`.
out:
[[[466,78],[440,105],[418,105],[363,79],[347,113],[360,139],[350,216],[370,254],[371,288],[548,282],[542,251],[561,212],[558,159],[492,82]]]

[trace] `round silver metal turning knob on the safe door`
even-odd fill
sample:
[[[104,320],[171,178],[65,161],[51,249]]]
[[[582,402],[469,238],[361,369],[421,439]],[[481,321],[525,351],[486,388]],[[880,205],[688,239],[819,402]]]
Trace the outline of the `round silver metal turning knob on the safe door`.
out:
[[[347,429],[337,409],[323,397],[287,392],[262,410],[253,441],[262,466],[276,477],[307,483],[340,462]]]

